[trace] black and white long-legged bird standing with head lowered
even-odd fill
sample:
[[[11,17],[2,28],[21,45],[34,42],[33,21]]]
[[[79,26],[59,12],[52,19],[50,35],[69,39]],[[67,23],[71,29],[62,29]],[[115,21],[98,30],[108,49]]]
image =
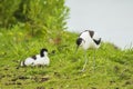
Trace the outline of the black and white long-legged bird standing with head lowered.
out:
[[[98,49],[101,43],[101,38],[95,38],[94,34],[95,33],[92,30],[85,30],[81,32],[79,38],[76,39],[76,50],[79,47],[82,47],[85,51],[90,48]],[[82,70],[84,70],[86,62],[88,62],[88,59],[85,53],[85,63]]]

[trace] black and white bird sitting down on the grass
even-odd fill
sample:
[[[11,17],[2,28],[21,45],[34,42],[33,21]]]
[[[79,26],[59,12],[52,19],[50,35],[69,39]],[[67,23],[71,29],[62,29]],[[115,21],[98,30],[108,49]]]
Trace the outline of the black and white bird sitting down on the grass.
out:
[[[21,61],[20,66],[49,66],[48,49],[41,49],[40,55],[35,55]]]

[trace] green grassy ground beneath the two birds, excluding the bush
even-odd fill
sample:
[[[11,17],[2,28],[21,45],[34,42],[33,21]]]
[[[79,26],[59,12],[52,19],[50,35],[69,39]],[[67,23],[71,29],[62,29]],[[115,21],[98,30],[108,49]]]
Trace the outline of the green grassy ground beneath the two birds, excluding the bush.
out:
[[[85,71],[80,72],[84,51],[79,49],[74,55],[76,37],[66,31],[48,31],[32,38],[21,29],[1,30],[0,89],[133,89],[133,49],[121,50],[102,42],[96,50],[95,69],[94,51],[88,50],[89,62]],[[19,67],[21,60],[41,48],[49,49],[49,67]]]

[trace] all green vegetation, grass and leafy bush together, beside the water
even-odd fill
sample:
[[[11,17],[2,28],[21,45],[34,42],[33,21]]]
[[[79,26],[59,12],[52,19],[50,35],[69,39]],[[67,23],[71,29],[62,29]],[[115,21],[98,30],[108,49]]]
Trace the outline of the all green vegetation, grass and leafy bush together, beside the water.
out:
[[[132,89],[133,49],[102,42],[76,55],[78,33],[66,31],[65,0],[0,0],[0,89]],[[49,49],[49,67],[20,67],[20,61]]]

